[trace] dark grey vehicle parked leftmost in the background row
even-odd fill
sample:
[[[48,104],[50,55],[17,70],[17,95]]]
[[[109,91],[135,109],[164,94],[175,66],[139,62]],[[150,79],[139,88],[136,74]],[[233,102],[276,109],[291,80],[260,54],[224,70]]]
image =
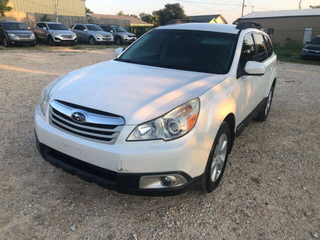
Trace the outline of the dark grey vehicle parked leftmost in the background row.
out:
[[[11,44],[29,44],[35,46],[35,37],[22,22],[0,21],[0,40],[5,47]]]

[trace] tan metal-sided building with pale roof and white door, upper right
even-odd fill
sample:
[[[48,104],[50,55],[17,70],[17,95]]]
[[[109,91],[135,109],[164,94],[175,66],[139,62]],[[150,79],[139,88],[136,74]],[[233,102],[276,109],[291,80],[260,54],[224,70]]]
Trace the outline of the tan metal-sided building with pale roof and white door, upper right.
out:
[[[320,35],[320,8],[256,11],[238,20],[260,23],[273,42],[302,44]]]

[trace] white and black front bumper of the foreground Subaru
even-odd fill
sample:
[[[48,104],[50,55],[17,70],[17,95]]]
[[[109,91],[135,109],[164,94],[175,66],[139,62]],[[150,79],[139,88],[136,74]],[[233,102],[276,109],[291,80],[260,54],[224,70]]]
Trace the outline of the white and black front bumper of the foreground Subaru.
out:
[[[47,117],[43,116],[39,105],[35,109],[34,124],[38,150],[45,160],[82,179],[130,194],[181,193],[193,183],[196,184],[204,171],[210,151],[202,147],[205,144],[201,144],[205,134],[197,132],[195,128],[172,141],[127,142],[125,139],[135,125],[124,125],[116,142],[105,144],[86,140],[55,128],[48,123]],[[89,171],[88,167],[81,168],[83,164],[99,169],[99,172]],[[181,174],[187,182],[172,188],[139,189],[141,176],[169,173]]]

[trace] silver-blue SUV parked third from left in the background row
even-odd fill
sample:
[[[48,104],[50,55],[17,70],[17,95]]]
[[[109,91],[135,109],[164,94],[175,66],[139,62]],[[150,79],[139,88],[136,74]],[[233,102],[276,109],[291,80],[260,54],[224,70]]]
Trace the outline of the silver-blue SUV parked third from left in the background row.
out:
[[[71,30],[77,35],[79,41],[89,42],[90,45],[113,43],[112,34],[103,31],[95,24],[76,23],[71,26]]]

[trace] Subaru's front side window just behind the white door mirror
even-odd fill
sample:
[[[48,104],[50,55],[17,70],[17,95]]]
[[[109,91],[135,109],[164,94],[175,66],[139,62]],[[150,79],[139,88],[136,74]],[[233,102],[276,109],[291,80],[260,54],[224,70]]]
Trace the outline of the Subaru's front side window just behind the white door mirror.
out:
[[[252,34],[247,34],[243,40],[236,78],[239,78],[240,76],[243,75],[244,66],[247,61],[255,61],[255,60],[256,60],[256,52],[255,52],[255,46],[254,46]]]

